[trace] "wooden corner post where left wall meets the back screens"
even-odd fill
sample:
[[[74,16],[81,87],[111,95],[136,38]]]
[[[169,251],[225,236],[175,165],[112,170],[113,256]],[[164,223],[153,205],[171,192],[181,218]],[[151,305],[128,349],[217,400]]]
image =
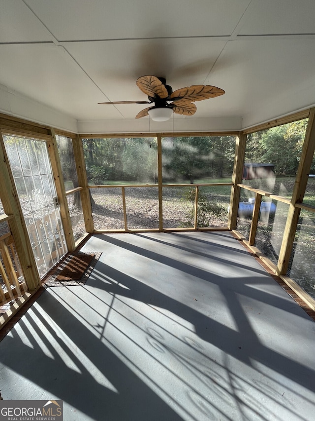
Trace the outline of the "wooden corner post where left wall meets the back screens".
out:
[[[82,203],[83,217],[84,217],[84,223],[85,223],[85,230],[89,232],[90,234],[92,234],[94,232],[92,204],[91,204],[90,189],[89,189],[88,178],[87,178],[87,171],[85,167],[83,145],[82,145],[82,140],[79,135],[77,135],[75,139],[72,139],[72,145],[73,145],[75,164],[77,168],[78,183],[79,183],[79,186],[82,187],[80,194],[81,194],[81,203]]]

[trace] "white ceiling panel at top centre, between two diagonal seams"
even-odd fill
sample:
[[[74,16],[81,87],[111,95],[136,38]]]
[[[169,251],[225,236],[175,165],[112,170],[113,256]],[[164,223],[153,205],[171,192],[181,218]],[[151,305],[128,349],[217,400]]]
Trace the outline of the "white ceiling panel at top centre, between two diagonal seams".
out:
[[[230,35],[250,0],[26,2],[62,41]]]

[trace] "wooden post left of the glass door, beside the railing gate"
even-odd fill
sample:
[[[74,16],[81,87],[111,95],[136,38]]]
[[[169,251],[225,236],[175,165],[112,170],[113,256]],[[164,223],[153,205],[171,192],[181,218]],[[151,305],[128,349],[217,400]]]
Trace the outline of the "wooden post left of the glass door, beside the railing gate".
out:
[[[25,282],[30,290],[37,290],[41,286],[39,273],[32,251],[27,227],[24,221],[23,212],[18,200],[18,193],[15,188],[9,159],[7,157],[2,133],[0,132],[0,197],[4,212],[13,215],[8,221],[13,235],[15,249],[21,264]]]

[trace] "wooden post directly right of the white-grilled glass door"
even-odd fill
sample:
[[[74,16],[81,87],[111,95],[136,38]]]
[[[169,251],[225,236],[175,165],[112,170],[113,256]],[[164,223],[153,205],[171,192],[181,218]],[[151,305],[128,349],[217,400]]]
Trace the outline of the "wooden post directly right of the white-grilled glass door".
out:
[[[57,197],[60,204],[60,216],[63,222],[64,237],[68,251],[71,252],[75,249],[75,242],[73,237],[72,224],[70,220],[68,201],[63,183],[63,171],[59,159],[55,130],[53,128],[51,129],[51,134],[52,140],[47,141],[47,149],[55,180]]]

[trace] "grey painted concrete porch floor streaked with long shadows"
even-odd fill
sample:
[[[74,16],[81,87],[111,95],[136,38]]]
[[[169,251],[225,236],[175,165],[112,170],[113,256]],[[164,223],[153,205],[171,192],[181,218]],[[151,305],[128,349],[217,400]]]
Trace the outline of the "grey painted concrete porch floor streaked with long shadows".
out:
[[[228,232],[94,235],[0,343],[4,399],[64,420],[315,419],[315,323]]]

